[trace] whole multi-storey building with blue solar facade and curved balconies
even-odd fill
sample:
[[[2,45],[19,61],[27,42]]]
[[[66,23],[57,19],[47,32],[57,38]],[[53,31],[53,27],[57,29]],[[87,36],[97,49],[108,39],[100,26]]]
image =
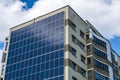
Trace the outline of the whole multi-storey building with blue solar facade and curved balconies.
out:
[[[120,80],[120,56],[70,6],[11,28],[7,39],[3,80]]]

